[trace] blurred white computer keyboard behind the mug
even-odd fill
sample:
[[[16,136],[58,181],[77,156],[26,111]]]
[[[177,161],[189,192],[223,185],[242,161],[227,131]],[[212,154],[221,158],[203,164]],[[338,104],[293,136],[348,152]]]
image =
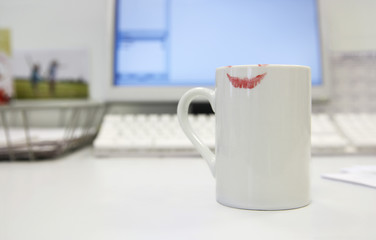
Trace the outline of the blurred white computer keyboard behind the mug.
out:
[[[190,115],[192,127],[212,149],[214,115]],[[312,115],[313,154],[376,153],[376,114]],[[106,115],[94,141],[97,156],[198,155],[176,115]]]

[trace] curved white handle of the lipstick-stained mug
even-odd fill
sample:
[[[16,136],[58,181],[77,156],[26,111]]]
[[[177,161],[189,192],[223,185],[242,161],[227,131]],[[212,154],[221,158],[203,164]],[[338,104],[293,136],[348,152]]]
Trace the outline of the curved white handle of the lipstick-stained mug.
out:
[[[203,141],[193,131],[188,121],[188,109],[192,100],[196,97],[204,97],[209,100],[209,103],[215,112],[215,91],[208,88],[193,88],[187,91],[180,99],[178,104],[178,119],[183,132],[189,140],[193,143],[193,146],[199,151],[201,156],[206,160],[209,165],[210,171],[215,177],[215,155],[206,146]]]

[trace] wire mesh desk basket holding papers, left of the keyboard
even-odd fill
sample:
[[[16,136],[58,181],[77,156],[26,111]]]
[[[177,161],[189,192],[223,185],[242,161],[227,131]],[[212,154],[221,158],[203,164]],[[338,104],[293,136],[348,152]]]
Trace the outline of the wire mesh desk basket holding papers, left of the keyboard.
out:
[[[0,106],[0,160],[54,158],[92,143],[101,103]]]

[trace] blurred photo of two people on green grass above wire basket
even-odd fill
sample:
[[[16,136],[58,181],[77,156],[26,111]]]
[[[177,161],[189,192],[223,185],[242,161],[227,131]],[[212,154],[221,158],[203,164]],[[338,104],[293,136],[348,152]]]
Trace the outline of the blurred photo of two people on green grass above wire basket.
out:
[[[84,50],[16,51],[12,66],[18,99],[88,97]]]

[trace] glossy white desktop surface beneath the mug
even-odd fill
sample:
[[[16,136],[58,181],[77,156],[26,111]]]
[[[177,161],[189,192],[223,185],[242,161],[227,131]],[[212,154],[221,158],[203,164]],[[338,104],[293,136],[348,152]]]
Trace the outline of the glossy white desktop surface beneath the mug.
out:
[[[376,189],[320,174],[376,157],[316,157],[313,202],[247,211],[215,201],[202,159],[0,162],[0,239],[376,239]]]

